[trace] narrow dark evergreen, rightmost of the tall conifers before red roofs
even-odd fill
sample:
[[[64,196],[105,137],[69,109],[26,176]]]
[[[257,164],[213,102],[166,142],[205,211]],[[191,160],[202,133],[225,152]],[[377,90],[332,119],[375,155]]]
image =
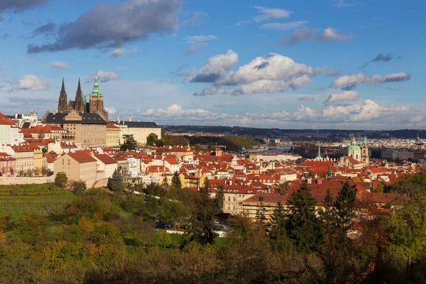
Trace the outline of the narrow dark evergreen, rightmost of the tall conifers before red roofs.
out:
[[[355,218],[355,201],[356,189],[351,190],[349,182],[344,182],[342,189],[339,191],[334,201],[334,215],[336,217],[336,225],[343,232],[351,229]]]

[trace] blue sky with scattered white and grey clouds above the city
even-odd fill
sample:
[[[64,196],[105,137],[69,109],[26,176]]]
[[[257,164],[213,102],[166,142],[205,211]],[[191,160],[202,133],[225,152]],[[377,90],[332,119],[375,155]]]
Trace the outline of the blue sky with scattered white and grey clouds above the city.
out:
[[[0,0],[0,111],[97,72],[110,119],[426,128],[424,0]]]

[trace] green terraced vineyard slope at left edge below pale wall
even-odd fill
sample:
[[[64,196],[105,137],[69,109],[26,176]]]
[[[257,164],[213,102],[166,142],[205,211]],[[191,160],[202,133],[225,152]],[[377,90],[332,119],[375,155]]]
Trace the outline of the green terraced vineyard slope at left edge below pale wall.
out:
[[[72,192],[48,184],[4,185],[0,186],[0,216],[10,216],[13,221],[28,213],[47,216],[62,210],[72,198]]]

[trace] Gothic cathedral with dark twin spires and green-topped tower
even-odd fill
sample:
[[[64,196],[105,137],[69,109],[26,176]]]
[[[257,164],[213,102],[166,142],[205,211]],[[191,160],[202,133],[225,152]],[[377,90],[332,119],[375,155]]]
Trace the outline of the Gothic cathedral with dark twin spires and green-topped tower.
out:
[[[82,93],[80,86],[80,79],[78,80],[77,92],[75,100],[68,101],[67,92],[65,91],[65,83],[62,79],[62,88],[60,89],[60,96],[58,102],[59,113],[70,113],[76,111],[77,113],[99,114],[105,121],[108,121],[108,112],[104,109],[104,94],[99,90],[99,83],[97,75],[94,77],[93,91],[89,94],[89,101],[86,99],[86,90]]]

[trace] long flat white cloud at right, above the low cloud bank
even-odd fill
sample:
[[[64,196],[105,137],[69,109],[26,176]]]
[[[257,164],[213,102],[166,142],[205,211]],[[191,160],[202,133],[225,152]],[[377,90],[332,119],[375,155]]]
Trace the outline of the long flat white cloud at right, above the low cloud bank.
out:
[[[367,77],[363,72],[359,72],[354,75],[344,75],[342,77],[337,78],[333,82],[333,86],[342,87],[347,86],[349,84],[382,84],[388,82],[403,82],[410,80],[411,75],[405,72],[395,73],[395,74],[387,74],[383,77],[381,75],[373,75],[373,77]]]

